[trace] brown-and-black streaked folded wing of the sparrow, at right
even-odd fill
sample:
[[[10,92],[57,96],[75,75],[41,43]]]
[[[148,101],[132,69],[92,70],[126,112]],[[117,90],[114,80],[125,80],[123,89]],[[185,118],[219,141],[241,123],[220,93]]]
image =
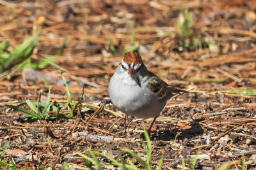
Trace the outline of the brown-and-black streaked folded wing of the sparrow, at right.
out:
[[[182,94],[187,92],[185,90],[177,89],[172,85],[168,85],[166,82],[157,77],[154,73],[152,73],[152,75],[148,79],[147,87],[152,92],[154,92],[154,94],[156,94],[159,100],[162,100],[165,97],[170,99],[170,97],[174,96],[175,94]]]

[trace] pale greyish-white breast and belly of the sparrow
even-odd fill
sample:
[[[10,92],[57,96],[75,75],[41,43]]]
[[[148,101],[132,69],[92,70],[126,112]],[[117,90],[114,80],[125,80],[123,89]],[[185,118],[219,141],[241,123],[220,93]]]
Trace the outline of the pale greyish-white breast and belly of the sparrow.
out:
[[[118,110],[139,118],[159,115],[166,104],[147,88],[147,78],[143,78],[140,87],[131,76],[125,74],[115,73],[111,77],[109,96]]]

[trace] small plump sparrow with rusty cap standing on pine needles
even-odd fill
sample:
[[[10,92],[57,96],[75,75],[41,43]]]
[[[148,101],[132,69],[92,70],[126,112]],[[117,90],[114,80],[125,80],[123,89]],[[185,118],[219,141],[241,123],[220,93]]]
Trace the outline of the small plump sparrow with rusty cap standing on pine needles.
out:
[[[109,96],[118,110],[138,118],[154,117],[148,132],[168,99],[180,92],[186,91],[168,85],[148,71],[136,52],[125,53],[109,81]]]

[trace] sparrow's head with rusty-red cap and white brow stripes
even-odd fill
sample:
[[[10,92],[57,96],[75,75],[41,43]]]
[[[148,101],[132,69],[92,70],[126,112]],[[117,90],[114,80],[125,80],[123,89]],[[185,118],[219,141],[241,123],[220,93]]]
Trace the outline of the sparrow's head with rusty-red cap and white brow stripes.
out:
[[[127,52],[122,59],[122,69],[125,69],[128,74],[133,77],[143,65],[140,55],[136,52]]]

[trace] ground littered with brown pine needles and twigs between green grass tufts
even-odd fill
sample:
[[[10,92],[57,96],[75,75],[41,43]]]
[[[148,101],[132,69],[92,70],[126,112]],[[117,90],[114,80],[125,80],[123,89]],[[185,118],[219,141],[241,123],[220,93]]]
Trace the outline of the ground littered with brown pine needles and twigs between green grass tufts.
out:
[[[180,8],[186,9],[184,16]],[[186,11],[193,24],[182,35],[178,21],[190,22]],[[255,1],[0,1],[0,25],[0,42],[12,48],[33,28],[40,30],[31,63],[58,56],[58,67],[26,67],[10,74],[14,65],[0,81],[0,143],[10,142],[6,162],[13,158],[17,168],[43,164],[61,169],[66,161],[86,169],[76,153],[90,155],[87,146],[116,159],[122,153],[136,162],[125,148],[145,157],[142,120],[129,117],[127,135],[123,114],[108,95],[124,48],[136,46],[150,71],[189,90],[170,99],[157,118],[151,134],[153,167],[164,154],[163,169],[180,169],[182,157],[187,166],[191,155],[200,152],[195,169],[225,169],[225,163],[241,169],[242,153],[246,169],[256,169],[256,96],[220,92],[256,87]],[[84,86],[74,118],[35,120],[6,107],[37,101],[40,93],[47,101],[49,87],[52,108],[65,106],[60,72],[72,100],[79,100]],[[31,111],[26,104],[20,107]],[[60,113],[70,115],[70,110],[63,107]],[[151,121],[145,120],[146,127]]]

